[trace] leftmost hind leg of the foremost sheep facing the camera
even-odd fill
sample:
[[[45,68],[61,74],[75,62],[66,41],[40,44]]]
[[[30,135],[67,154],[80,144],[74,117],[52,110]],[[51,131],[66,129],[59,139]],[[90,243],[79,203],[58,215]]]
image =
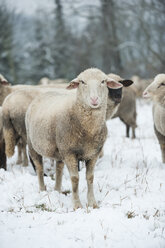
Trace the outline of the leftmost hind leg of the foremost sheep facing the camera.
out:
[[[36,168],[40,190],[44,191],[46,190],[46,186],[44,183],[42,156],[36,153],[36,151],[32,148],[31,144],[29,144],[29,155],[30,155],[30,160],[32,161],[32,163]]]

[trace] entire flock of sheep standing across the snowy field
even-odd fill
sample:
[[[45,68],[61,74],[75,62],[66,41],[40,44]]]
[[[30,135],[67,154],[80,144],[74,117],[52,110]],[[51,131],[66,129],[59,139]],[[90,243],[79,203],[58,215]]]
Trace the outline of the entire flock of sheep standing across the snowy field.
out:
[[[94,167],[103,156],[106,120],[119,117],[126,125],[126,136],[129,137],[131,127],[135,138],[136,97],[142,96],[143,91],[144,97],[154,101],[154,129],[165,163],[165,74],[157,75],[153,82],[140,81],[137,76],[127,80],[91,68],[70,83],[43,78],[37,86],[11,86],[0,75],[0,168],[6,169],[6,156],[13,156],[15,146],[17,163],[28,166],[28,145],[40,190],[46,189],[42,158],[48,157],[56,161],[55,190],[61,192],[66,164],[72,183],[73,207],[77,209],[82,207],[78,165],[84,161],[88,205],[97,207],[93,192]]]

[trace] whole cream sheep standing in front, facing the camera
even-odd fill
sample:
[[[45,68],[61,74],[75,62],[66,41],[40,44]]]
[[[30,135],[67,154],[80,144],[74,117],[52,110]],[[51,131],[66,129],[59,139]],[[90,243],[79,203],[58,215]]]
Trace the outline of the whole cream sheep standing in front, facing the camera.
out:
[[[61,190],[64,163],[70,173],[74,209],[82,207],[78,193],[78,161],[86,162],[88,205],[97,207],[94,166],[107,137],[108,89],[122,84],[96,68],[83,71],[67,89],[76,94],[45,93],[30,104],[25,117],[29,154],[36,166],[40,190],[45,190],[42,156],[56,160],[56,186]]]

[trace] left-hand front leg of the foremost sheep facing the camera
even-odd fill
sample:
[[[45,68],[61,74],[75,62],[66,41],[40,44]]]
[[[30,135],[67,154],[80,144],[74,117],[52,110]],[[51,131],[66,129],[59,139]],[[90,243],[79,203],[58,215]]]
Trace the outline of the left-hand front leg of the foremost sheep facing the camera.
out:
[[[74,155],[65,157],[65,163],[69,170],[69,174],[72,182],[72,198],[73,198],[74,209],[82,208],[79,198],[79,192],[78,192],[79,174],[78,174],[77,162],[78,161]]]

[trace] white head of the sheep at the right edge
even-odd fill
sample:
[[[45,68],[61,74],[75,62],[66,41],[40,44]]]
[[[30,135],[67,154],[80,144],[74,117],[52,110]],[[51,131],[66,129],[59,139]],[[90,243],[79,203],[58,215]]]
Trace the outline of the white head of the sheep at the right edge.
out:
[[[154,81],[145,89],[143,97],[165,103],[165,74],[158,74]]]

